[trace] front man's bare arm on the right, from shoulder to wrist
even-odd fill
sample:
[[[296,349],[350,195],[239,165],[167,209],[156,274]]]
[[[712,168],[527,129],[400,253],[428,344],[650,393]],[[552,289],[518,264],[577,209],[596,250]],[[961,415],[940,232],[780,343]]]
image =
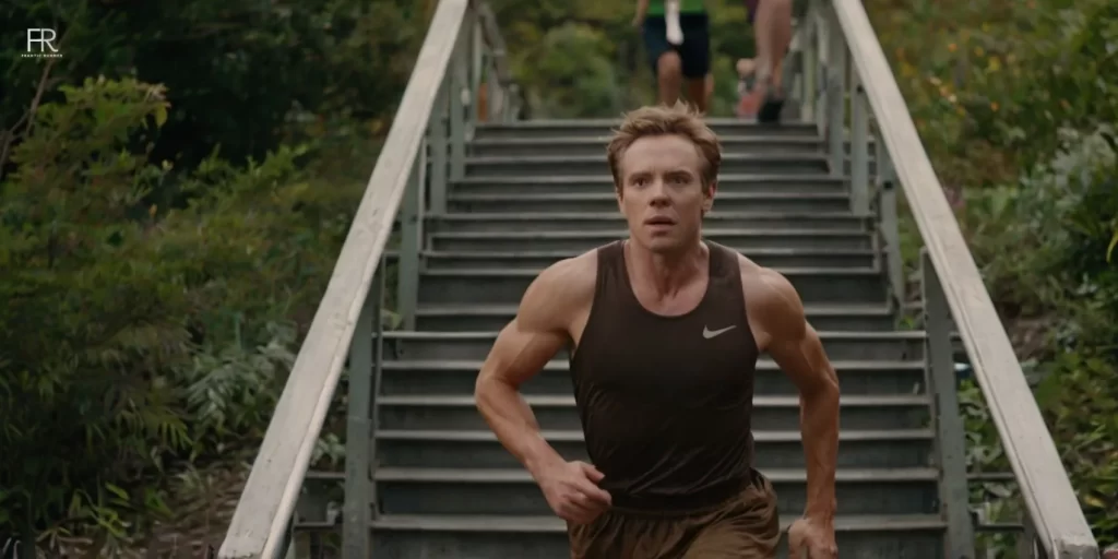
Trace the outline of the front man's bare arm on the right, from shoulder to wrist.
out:
[[[754,277],[752,296],[746,300],[750,302],[750,322],[761,330],[764,349],[799,389],[799,426],[807,463],[804,515],[831,525],[836,506],[839,377],[788,280],[764,268],[755,268]]]

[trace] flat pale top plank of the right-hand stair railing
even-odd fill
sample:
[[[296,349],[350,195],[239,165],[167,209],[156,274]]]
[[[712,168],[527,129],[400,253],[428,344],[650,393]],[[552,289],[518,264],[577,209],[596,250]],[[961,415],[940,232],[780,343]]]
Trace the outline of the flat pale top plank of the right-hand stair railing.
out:
[[[908,105],[861,1],[833,0],[842,31],[912,216],[942,284],[975,378],[1049,557],[1098,558],[1098,544],[1060,462],[1010,338],[986,292]]]

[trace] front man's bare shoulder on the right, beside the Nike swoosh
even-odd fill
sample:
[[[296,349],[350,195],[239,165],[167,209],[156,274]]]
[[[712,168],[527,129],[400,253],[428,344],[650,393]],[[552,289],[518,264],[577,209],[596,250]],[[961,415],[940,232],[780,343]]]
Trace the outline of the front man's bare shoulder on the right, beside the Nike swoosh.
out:
[[[807,325],[799,293],[784,274],[739,255],[746,315],[755,333],[773,338],[798,338]]]

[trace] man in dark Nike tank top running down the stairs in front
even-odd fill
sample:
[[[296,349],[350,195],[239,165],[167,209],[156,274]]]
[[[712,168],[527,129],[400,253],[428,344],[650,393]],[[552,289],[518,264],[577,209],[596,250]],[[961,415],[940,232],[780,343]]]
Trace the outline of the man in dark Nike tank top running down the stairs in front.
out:
[[[536,278],[482,366],[479,410],[567,521],[574,559],[774,558],[776,494],[750,429],[767,352],[800,396],[792,557],[836,557],[837,378],[788,280],[702,239],[718,138],[682,104],[644,107],[607,154],[628,238]],[[593,464],[560,456],[519,394],[563,348]]]

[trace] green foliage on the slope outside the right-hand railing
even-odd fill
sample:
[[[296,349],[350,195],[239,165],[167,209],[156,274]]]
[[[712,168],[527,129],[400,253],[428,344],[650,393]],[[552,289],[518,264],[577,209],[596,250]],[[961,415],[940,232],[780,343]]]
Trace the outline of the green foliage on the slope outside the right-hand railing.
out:
[[[987,288],[1025,368],[1044,379],[1036,398],[1081,505],[1100,542],[1115,542],[1118,6],[873,4],[937,172],[963,192],[960,221]],[[976,389],[963,396],[972,465],[1004,471]],[[995,515],[1020,511],[1003,506],[1005,487],[979,492]]]

